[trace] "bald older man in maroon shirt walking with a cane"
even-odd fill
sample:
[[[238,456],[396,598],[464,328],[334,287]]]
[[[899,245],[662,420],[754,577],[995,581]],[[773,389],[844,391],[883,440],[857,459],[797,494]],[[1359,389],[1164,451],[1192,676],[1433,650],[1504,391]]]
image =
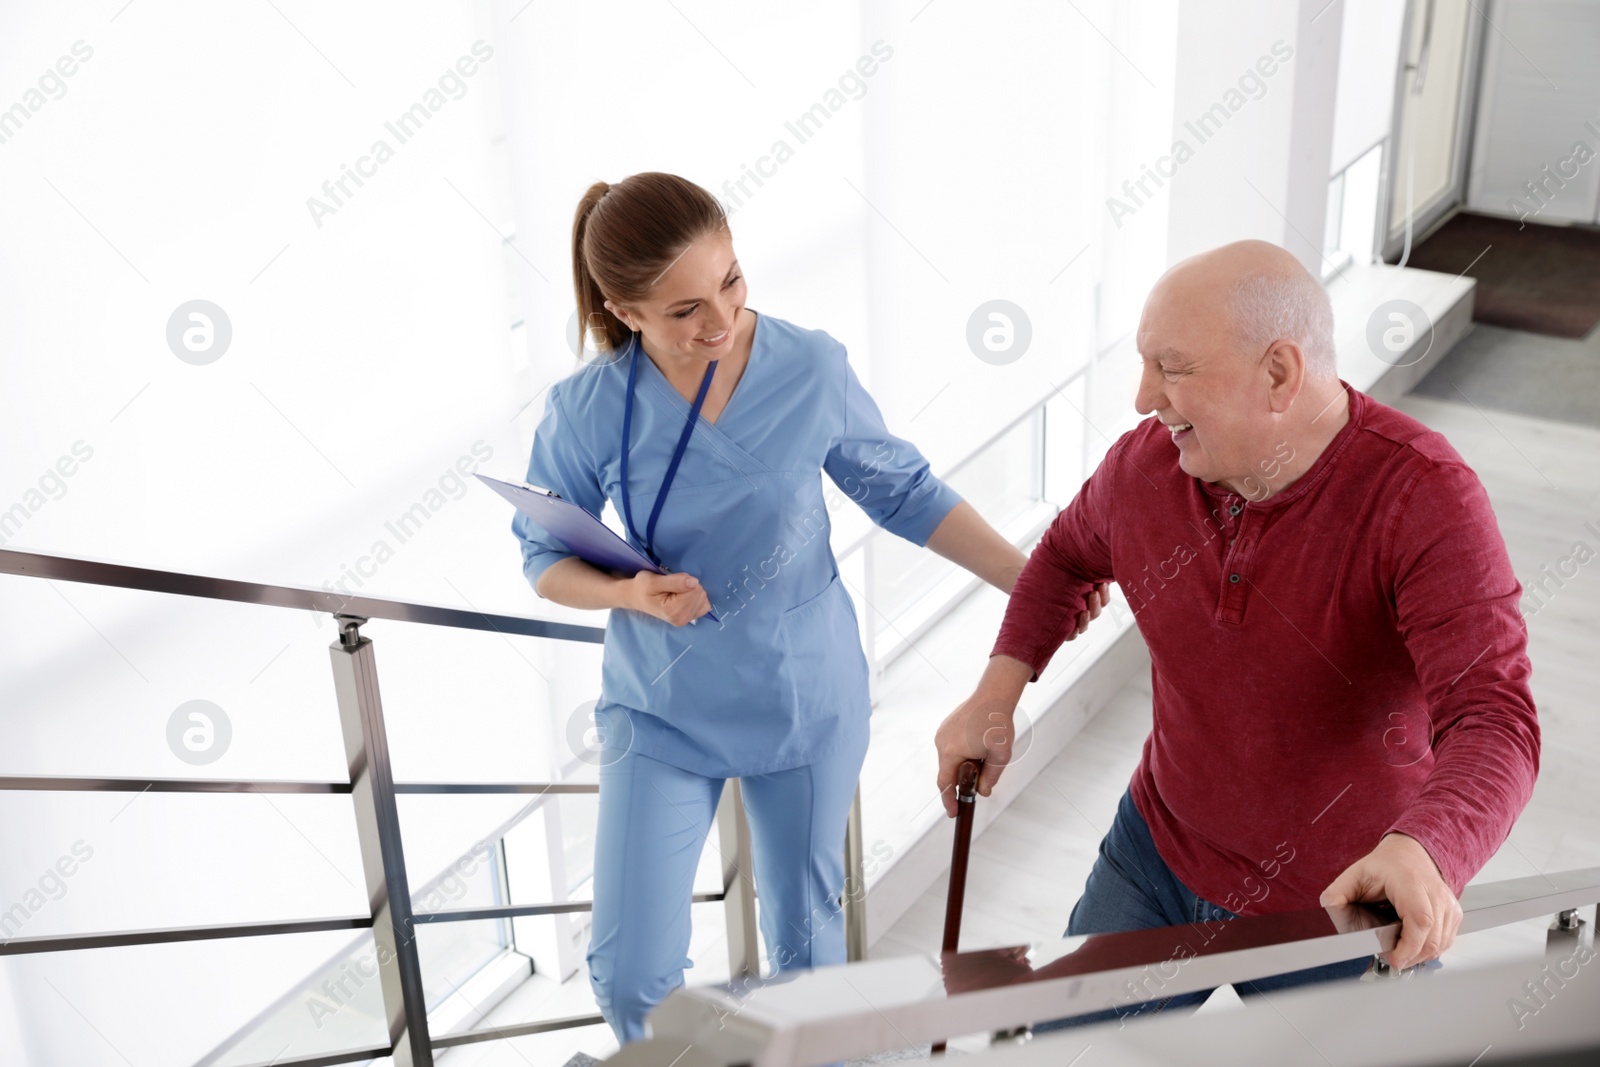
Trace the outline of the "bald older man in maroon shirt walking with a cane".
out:
[[[1155,418],[1022,569],[978,689],[936,736],[946,809],[962,760],[986,760],[992,790],[1024,686],[1115,581],[1150,649],[1154,718],[1067,934],[1387,899],[1389,961],[1432,960],[1539,763],[1522,587],[1483,486],[1443,437],[1339,381],[1328,296],[1275,245],[1168,270],[1138,347],[1134,406]],[[1056,1025],[1210,993],[1158,985]]]

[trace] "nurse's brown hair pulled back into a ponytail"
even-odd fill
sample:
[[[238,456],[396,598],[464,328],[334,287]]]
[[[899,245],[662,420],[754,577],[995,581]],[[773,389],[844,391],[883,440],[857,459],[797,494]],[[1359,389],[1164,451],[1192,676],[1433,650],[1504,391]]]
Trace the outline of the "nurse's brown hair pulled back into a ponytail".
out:
[[[645,171],[614,186],[597,181],[573,216],[573,291],[579,344],[621,352],[634,336],[605,302],[643,299],[690,245],[726,229],[709,192],[677,174]]]

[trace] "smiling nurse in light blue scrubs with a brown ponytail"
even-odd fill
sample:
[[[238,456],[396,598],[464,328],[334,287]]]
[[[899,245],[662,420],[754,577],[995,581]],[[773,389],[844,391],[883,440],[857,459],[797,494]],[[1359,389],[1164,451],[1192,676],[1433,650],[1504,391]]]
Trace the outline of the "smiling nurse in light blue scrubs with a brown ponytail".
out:
[[[691,966],[694,869],[730,777],[770,965],[845,961],[834,902],[870,705],[821,475],[1002,590],[1026,560],[890,434],[840,342],[746,307],[726,218],[699,186],[592,186],[573,274],[602,358],[550,387],[528,482],[595,515],[611,501],[672,571],[621,577],[512,525],[541,597],[611,609],[589,979],[626,1043]]]

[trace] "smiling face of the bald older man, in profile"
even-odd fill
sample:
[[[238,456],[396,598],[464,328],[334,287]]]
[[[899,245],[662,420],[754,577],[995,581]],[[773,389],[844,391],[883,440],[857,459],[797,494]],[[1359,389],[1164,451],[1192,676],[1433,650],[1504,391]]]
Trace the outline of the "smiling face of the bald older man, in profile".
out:
[[[1274,454],[1272,360],[1246,352],[1227,310],[1226,272],[1174,267],[1139,320],[1134,406],[1171,429],[1184,474],[1243,491]]]

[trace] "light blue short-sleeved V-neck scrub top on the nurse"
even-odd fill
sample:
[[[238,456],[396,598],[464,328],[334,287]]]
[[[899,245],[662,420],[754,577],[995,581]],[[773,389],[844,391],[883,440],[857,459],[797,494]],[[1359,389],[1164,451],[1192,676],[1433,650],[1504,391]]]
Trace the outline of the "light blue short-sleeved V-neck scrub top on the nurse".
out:
[[[643,523],[690,402],[638,360],[629,494]],[[530,485],[595,515],[610,499],[621,514],[627,370],[627,358],[584,366],[550,387]],[[829,545],[821,472],[918,545],[962,499],[888,432],[845,346],[758,315],[744,374],[717,422],[694,426],[654,534],[661,561],[701,581],[720,624],[674,627],[630,609],[606,622],[597,712],[626,710],[634,750],[738,777],[811,763],[864,726],[867,661]],[[571,555],[522,514],[512,531],[530,584]]]

